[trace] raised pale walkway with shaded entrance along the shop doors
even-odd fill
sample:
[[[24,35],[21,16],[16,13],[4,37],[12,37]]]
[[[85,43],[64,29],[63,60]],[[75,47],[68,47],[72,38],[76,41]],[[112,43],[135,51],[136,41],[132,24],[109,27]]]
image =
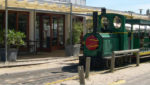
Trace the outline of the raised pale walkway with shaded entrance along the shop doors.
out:
[[[18,59],[15,62],[6,62],[6,63],[0,62],[0,68],[38,65],[38,64],[57,62],[57,61],[73,59],[73,58],[77,58],[77,57],[66,56],[64,50],[56,50],[51,53],[39,52],[37,55],[26,54],[26,55],[18,56]]]

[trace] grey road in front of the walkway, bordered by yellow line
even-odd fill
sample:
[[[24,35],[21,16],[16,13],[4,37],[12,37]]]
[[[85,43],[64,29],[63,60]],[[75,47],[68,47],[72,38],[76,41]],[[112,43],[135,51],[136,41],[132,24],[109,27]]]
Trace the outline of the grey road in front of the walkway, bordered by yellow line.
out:
[[[77,65],[0,75],[0,85],[45,85],[77,75]]]

